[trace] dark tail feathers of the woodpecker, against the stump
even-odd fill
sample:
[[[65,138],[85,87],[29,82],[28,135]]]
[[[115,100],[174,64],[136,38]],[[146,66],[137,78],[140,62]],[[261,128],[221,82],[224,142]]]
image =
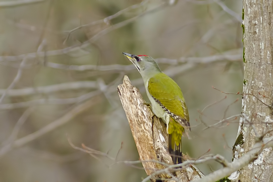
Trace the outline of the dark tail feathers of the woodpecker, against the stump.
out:
[[[168,135],[168,150],[174,164],[182,163],[182,141],[176,145],[175,140],[171,134]]]

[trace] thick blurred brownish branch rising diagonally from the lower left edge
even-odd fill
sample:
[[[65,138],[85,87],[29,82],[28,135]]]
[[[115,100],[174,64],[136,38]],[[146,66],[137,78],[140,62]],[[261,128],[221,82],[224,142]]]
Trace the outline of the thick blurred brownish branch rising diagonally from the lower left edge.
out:
[[[41,129],[39,129],[27,136],[24,136],[20,139],[17,139],[16,141],[12,142],[11,144],[4,145],[0,149],[0,158],[1,158],[1,156],[6,154],[8,151],[12,150],[13,148],[21,147],[21,146],[27,144],[28,142],[31,142],[31,141],[39,138],[40,136],[42,136],[46,133],[49,133],[49,132],[55,130],[56,128],[66,124],[67,122],[72,120],[77,115],[86,111],[91,106],[96,105],[96,103],[98,103],[98,99],[92,98],[92,99],[90,99],[78,106],[75,106],[73,109],[68,111],[65,115],[63,115],[61,118],[53,121],[52,123],[44,126],[43,128],[41,128]]]

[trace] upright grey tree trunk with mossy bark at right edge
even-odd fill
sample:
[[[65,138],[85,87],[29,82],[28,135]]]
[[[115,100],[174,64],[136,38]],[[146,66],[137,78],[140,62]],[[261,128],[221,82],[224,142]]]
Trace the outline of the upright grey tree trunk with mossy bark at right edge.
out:
[[[243,0],[243,41],[244,41],[244,85],[242,112],[248,120],[240,119],[237,140],[233,147],[234,158],[240,158],[244,152],[250,150],[256,137],[272,130],[272,99],[273,98],[273,9],[272,0]],[[263,96],[266,97],[263,97]],[[246,119],[246,118],[245,118]],[[253,124],[255,130],[250,126]],[[267,134],[266,136],[269,136]],[[241,170],[233,173],[232,181],[273,181],[273,152],[266,148]]]

